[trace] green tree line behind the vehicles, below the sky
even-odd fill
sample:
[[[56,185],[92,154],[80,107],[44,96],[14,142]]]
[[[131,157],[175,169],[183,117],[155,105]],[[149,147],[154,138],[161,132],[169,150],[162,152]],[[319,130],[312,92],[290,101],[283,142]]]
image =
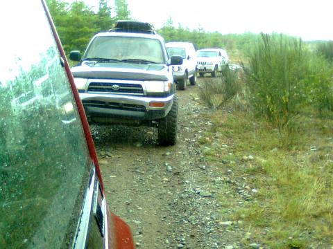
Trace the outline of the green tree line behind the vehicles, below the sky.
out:
[[[109,30],[117,20],[132,19],[126,0],[116,0],[114,8],[110,8],[106,0],[100,0],[97,10],[92,10],[84,1],[46,0],[46,3],[67,54],[71,50],[84,51],[95,33]],[[222,35],[207,33],[203,28],[189,30],[181,24],[175,27],[171,17],[157,33],[166,42],[192,42],[197,49],[215,47],[244,52],[259,37],[253,33]]]

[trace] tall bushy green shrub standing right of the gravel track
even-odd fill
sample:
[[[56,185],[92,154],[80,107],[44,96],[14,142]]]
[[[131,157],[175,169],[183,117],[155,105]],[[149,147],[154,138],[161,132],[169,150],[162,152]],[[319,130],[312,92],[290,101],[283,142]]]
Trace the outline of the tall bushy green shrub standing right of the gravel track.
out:
[[[248,65],[244,71],[255,112],[285,129],[306,98],[309,53],[300,39],[262,34]]]

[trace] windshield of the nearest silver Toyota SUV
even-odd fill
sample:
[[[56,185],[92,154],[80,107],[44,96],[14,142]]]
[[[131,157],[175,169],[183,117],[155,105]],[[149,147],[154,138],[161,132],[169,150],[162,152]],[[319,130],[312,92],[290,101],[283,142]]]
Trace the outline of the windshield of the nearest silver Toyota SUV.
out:
[[[158,39],[142,37],[96,37],[87,48],[85,57],[151,62],[164,64],[162,44]]]

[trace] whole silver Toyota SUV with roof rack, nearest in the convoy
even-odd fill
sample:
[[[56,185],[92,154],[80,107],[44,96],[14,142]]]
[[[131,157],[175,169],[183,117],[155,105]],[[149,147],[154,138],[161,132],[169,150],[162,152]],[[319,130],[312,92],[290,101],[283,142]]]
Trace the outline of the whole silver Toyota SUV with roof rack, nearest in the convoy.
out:
[[[95,35],[71,72],[89,123],[155,125],[161,145],[177,138],[178,102],[164,39],[150,24],[119,21]]]

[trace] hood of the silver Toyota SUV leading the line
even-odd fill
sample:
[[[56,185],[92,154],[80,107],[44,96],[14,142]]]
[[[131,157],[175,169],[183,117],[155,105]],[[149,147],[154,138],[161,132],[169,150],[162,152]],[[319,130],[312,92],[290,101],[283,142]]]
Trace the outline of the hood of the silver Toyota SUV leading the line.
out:
[[[82,62],[71,68],[71,73],[87,79],[170,80],[169,67],[162,64]]]

